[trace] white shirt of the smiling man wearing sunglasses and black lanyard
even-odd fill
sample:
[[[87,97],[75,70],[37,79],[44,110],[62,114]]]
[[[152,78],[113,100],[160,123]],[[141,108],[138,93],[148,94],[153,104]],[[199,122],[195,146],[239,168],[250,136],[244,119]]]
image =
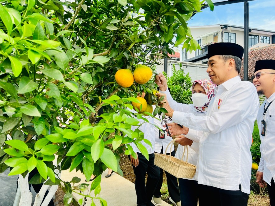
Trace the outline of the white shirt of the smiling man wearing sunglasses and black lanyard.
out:
[[[275,180],[275,93],[273,93],[259,109],[257,116],[257,123],[260,132],[261,144],[260,152],[261,159],[259,163],[259,172],[264,172],[264,181],[271,185],[271,179]],[[274,101],[273,101],[274,100]],[[266,114],[265,114],[265,136],[262,136],[262,120],[264,114],[264,108],[267,108],[269,105]]]

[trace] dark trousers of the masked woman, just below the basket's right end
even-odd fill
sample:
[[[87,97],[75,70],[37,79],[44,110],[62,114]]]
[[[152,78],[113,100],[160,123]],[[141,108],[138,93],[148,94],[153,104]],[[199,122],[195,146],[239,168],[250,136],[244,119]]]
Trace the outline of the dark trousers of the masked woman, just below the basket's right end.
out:
[[[179,178],[179,186],[181,195],[181,206],[197,206],[198,181]]]

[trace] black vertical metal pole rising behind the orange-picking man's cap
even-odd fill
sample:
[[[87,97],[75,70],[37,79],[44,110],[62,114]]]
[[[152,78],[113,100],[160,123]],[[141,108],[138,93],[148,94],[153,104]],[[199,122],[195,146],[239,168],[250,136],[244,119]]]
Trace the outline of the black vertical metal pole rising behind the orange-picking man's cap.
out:
[[[244,81],[248,81],[248,2],[244,2]]]

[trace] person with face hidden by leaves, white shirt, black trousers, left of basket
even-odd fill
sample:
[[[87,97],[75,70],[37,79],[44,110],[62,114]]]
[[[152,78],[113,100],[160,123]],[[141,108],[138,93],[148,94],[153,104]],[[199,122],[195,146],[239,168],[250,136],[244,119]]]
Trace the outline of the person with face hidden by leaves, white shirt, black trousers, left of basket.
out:
[[[134,110],[131,112],[136,113]],[[136,118],[135,116],[133,118]],[[137,119],[137,118],[136,118]],[[147,160],[140,152],[138,146],[135,143],[131,143],[134,152],[137,155],[137,159],[134,159],[132,155],[128,155],[131,164],[133,166],[133,170],[135,173],[135,192],[137,196],[137,206],[154,206],[151,202],[153,198],[154,191],[156,189],[160,171],[159,167],[154,164],[155,160],[155,137],[154,133],[154,118],[147,116],[148,122],[144,123],[143,119],[137,119],[140,123],[143,123],[141,126],[132,126],[131,130],[135,131],[135,129],[139,129],[144,133],[144,139],[150,141],[152,147],[145,143],[145,141],[141,141],[140,143],[149,153],[149,160]],[[147,181],[145,185],[145,177],[147,173]]]

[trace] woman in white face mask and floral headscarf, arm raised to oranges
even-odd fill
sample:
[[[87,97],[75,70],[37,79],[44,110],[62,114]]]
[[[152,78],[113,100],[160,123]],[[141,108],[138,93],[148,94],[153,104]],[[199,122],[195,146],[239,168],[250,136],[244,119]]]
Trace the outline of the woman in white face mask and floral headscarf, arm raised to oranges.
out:
[[[167,87],[167,81],[163,74],[159,74],[159,77],[162,79],[162,84],[164,87]],[[164,91],[162,93],[166,94],[167,101],[169,102],[171,108],[181,112],[192,113],[196,116],[204,116],[207,114],[207,109],[209,102],[211,101],[214,95],[214,89],[216,85],[213,84],[211,80],[201,79],[196,80],[193,82],[191,91],[192,91],[192,101],[193,104],[182,104],[178,103],[173,100],[170,92],[168,89],[163,88]],[[173,133],[177,133],[181,131],[181,127],[175,123],[168,123],[167,126],[169,127],[171,136]],[[183,131],[184,132],[184,131]],[[182,132],[182,133],[183,133]],[[182,136],[180,136],[182,137]],[[177,140],[176,142],[179,143],[178,148],[176,150],[175,157],[177,159],[186,159],[186,154],[184,152],[184,146],[181,146],[181,141],[188,141],[188,162],[191,164],[196,165],[198,160],[198,143],[193,142],[187,138],[182,138]],[[184,144],[183,144],[184,145]],[[181,197],[181,204],[184,206],[197,206],[198,205],[198,181],[196,175],[192,179],[179,179],[179,188],[180,188],[180,197]]]

